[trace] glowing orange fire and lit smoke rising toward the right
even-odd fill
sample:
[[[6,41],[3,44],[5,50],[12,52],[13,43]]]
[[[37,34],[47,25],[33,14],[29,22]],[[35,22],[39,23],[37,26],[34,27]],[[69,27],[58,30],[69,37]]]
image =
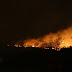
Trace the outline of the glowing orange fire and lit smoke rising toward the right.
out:
[[[21,46],[18,42],[15,46]],[[48,49],[48,47],[52,47],[52,49],[58,48],[68,48],[72,46],[72,27],[69,27],[64,30],[60,30],[56,33],[49,33],[48,35],[44,35],[38,39],[27,39],[23,42],[24,47],[42,47]]]

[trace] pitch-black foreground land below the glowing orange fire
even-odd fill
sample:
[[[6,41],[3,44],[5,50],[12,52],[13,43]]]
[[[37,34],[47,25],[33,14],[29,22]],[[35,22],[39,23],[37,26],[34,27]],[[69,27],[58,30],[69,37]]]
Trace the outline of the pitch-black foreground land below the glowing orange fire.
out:
[[[0,48],[1,72],[64,72],[71,69],[72,49]]]

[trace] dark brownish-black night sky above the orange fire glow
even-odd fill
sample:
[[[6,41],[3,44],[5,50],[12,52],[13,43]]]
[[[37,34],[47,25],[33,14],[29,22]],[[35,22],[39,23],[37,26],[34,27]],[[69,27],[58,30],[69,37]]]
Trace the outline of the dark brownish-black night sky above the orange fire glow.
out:
[[[40,37],[72,24],[72,3],[0,1],[0,40]]]

